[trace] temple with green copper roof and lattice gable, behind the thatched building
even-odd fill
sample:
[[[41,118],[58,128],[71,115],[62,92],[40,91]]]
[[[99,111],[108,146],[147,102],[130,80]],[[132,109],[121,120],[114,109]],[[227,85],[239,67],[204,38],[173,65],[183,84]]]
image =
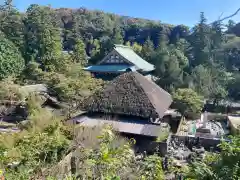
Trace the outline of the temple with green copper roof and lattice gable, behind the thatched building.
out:
[[[131,47],[115,45],[114,49],[98,64],[85,67],[84,70],[91,72],[96,78],[112,80],[129,71],[137,71],[150,77],[154,66],[138,56]]]

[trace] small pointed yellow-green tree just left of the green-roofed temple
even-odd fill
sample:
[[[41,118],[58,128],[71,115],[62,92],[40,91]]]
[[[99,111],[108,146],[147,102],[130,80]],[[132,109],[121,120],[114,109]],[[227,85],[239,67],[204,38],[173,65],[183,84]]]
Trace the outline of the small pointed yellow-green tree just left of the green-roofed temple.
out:
[[[87,55],[85,51],[85,44],[81,39],[76,40],[76,44],[73,48],[73,57],[72,59],[76,63],[80,63],[81,65],[86,65],[87,63]]]

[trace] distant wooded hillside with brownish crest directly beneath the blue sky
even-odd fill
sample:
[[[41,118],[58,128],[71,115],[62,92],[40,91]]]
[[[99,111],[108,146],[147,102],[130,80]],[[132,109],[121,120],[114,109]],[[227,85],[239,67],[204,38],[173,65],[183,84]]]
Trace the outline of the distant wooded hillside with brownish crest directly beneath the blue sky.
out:
[[[157,21],[131,18],[104,13],[102,11],[89,11],[87,9],[57,9],[57,17],[60,26],[64,28],[64,48],[71,48],[68,31],[72,30],[74,23],[78,25],[78,32],[87,41],[111,37],[116,30],[120,30],[123,40],[143,44],[148,37],[154,45],[158,45],[159,34],[165,35],[170,42],[174,42],[176,36],[185,38],[189,28],[184,25],[173,26]]]

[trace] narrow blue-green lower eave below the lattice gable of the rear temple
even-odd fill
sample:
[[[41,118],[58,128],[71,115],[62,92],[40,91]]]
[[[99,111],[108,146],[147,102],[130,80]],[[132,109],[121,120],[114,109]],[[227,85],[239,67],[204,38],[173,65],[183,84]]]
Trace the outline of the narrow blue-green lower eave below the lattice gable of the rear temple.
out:
[[[84,68],[87,71],[93,72],[125,72],[128,68],[132,69],[129,65],[95,65]]]

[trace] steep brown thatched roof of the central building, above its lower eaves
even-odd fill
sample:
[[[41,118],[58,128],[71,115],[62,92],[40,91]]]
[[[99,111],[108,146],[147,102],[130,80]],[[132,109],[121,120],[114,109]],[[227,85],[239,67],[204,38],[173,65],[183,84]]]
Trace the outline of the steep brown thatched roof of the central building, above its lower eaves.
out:
[[[138,72],[128,72],[89,97],[83,109],[88,112],[162,118],[171,103],[171,95],[154,82]]]

